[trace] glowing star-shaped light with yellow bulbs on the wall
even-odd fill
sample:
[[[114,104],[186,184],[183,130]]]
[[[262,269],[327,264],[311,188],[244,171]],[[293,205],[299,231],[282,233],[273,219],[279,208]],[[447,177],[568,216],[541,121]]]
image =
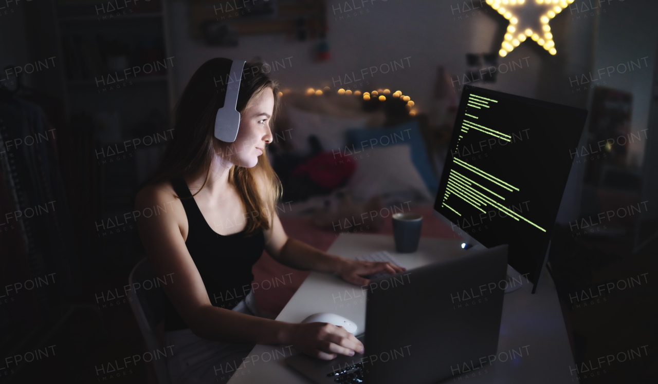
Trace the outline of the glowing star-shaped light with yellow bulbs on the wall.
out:
[[[513,51],[528,37],[544,47],[551,55],[555,55],[557,50],[548,22],[574,0],[486,0],[486,2],[509,20],[505,39],[498,51],[501,56]]]

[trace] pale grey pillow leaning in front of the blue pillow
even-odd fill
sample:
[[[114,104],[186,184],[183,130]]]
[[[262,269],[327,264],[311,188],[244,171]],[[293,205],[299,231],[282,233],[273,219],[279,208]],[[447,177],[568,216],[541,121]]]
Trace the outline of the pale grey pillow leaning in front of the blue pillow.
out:
[[[411,162],[411,145],[373,147],[352,158],[357,169],[347,188],[355,201],[367,201],[375,195],[384,196],[384,201],[434,201]]]

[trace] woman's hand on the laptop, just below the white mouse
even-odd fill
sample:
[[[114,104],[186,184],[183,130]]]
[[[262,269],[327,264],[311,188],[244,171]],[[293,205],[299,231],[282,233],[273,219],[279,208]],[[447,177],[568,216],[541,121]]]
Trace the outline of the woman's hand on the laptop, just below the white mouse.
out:
[[[338,354],[363,353],[361,341],[345,328],[329,323],[295,324],[290,342],[301,352],[322,360],[332,360]]]

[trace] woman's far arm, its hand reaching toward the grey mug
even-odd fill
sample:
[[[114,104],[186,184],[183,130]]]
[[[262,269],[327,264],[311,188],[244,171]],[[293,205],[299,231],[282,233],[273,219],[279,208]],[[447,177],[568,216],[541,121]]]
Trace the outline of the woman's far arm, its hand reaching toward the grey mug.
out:
[[[266,237],[271,237],[265,249],[274,260],[298,270],[314,270],[318,272],[333,272],[348,283],[367,285],[369,280],[361,275],[371,275],[386,271],[390,274],[402,272],[406,268],[389,262],[367,262],[349,260],[322,252],[297,239],[286,235],[278,215],[272,218],[272,228],[265,231]]]

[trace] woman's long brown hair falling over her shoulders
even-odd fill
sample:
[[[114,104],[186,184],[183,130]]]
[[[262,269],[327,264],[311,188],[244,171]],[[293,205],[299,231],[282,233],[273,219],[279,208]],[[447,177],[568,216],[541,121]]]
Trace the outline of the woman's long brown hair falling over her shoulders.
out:
[[[203,171],[205,180],[201,189],[205,187],[215,156],[215,115],[218,108],[224,106],[225,90],[222,87],[225,88],[232,81],[227,78],[231,62],[221,57],[210,59],[194,72],[174,108],[173,138],[167,144],[158,170],[147,184],[183,178]],[[276,80],[270,79],[268,72],[269,67],[260,60],[245,63],[236,110],[243,114],[255,97],[271,89],[274,93],[271,126],[279,107],[279,87]],[[258,156],[258,163],[253,168],[232,166],[228,181],[238,188],[247,212],[251,212],[246,215],[246,233],[254,233],[260,228],[269,229],[269,220],[276,212],[282,186],[267,158],[267,148],[263,155]]]

